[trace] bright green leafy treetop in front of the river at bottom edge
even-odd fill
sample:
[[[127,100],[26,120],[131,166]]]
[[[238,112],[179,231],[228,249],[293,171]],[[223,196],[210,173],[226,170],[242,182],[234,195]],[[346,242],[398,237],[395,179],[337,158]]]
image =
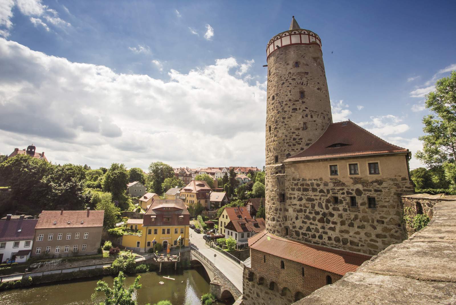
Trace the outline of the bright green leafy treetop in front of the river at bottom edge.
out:
[[[98,292],[103,292],[105,299],[104,302],[100,302],[100,305],[138,305],[138,302],[133,300],[133,294],[142,287],[139,283],[140,279],[141,276],[138,275],[135,282],[128,288],[124,288],[125,276],[123,272],[119,272],[119,275],[114,278],[113,288],[109,288],[105,281],[99,280],[92,300],[95,300]]]

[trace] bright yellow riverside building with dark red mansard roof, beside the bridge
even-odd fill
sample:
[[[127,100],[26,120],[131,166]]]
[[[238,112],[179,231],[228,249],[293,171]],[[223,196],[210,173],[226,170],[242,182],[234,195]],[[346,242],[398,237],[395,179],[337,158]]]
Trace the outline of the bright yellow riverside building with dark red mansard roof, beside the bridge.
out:
[[[133,225],[127,222],[128,227]],[[146,252],[154,246],[155,243],[160,243],[163,249],[168,245],[171,248],[179,247],[179,237],[181,246],[189,245],[189,230],[190,230],[190,214],[185,208],[182,200],[155,200],[147,209],[142,219],[141,227],[138,224],[140,233],[137,235],[124,234],[122,238],[122,246],[134,248],[140,252]]]

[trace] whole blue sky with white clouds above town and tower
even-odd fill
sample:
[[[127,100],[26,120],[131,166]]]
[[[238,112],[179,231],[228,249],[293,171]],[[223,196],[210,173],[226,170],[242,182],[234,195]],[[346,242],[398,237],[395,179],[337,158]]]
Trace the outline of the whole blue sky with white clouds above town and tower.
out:
[[[147,170],[264,165],[265,48],[321,37],[333,121],[415,154],[456,69],[455,1],[0,0],[0,153]],[[422,166],[415,157],[410,168]]]

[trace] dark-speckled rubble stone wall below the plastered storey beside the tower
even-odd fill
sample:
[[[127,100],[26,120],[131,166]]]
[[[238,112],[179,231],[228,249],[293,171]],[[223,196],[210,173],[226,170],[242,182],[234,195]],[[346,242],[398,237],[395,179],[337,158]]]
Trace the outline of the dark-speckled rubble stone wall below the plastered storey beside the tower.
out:
[[[293,166],[287,165],[286,203],[269,206],[270,233],[285,236],[288,229],[287,238],[295,241],[369,255],[407,238],[400,200],[413,193],[407,177],[350,177],[347,183],[329,176],[302,178]],[[331,196],[339,202],[332,203]],[[350,196],[356,196],[357,207],[350,207]],[[376,209],[367,207],[369,196],[376,198]]]

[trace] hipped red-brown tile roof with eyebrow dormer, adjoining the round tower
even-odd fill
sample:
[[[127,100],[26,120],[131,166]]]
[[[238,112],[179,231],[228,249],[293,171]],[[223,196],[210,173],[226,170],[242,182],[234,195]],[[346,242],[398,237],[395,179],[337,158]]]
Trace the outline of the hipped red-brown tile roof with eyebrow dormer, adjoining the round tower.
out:
[[[342,144],[339,147],[329,147]],[[287,161],[305,161],[359,155],[406,152],[405,148],[390,144],[352,121],[333,123],[306,150],[291,156]]]

